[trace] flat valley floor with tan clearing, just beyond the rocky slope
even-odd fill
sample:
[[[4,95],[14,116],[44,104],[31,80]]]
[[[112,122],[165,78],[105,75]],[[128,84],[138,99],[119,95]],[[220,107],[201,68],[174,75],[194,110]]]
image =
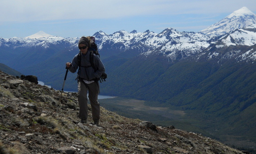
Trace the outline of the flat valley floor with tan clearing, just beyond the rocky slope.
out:
[[[205,123],[200,119],[192,118],[190,115],[182,110],[172,110],[170,107],[155,107],[146,105],[146,101],[135,100],[128,98],[111,98],[99,100],[101,105],[107,110],[118,113],[119,115],[128,118],[139,118],[146,121],[151,121],[158,126],[175,126],[175,128],[202,133],[204,136],[215,138],[227,145],[239,147],[240,149],[253,149],[248,147],[256,147],[256,143],[245,140],[242,136],[230,136],[223,134],[217,130],[204,129]],[[202,128],[203,127],[203,128]],[[254,150],[253,150],[254,151]]]

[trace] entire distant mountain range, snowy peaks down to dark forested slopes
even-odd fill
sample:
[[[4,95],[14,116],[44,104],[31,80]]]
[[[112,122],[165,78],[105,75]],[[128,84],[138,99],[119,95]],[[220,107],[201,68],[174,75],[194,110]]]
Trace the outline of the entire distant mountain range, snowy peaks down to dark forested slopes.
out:
[[[101,94],[182,110],[193,125],[216,138],[256,147],[256,124],[249,122],[256,121],[255,23],[256,15],[243,7],[198,33],[99,31],[93,36],[108,74]],[[78,40],[42,31],[25,38],[0,37],[0,62],[60,90]],[[68,73],[65,90],[77,91],[75,78]]]

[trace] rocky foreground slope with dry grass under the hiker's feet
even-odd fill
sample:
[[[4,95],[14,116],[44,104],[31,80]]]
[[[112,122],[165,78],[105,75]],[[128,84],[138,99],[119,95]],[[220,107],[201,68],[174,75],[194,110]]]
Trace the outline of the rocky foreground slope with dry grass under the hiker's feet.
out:
[[[216,140],[101,108],[100,127],[79,123],[76,93],[62,93],[0,72],[0,153],[226,153]],[[89,119],[91,108],[89,107]]]

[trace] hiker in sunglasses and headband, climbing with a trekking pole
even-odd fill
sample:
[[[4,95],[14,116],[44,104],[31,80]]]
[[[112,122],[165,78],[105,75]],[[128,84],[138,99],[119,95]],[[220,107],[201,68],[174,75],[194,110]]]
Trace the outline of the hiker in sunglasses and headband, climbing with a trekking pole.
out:
[[[91,40],[90,37],[81,37],[78,42],[78,48],[80,49],[80,62],[78,55],[75,55],[72,62],[67,62],[66,67],[72,73],[75,73],[78,69],[78,105],[79,105],[79,118],[81,119],[81,123],[87,123],[88,117],[88,99],[87,99],[87,91],[89,91],[88,98],[90,100],[91,108],[92,108],[92,120],[93,126],[99,126],[100,120],[100,104],[98,100],[98,94],[100,92],[99,87],[99,78],[105,72],[105,67],[101,62],[100,58],[93,55],[93,64],[94,67],[91,66],[90,63],[90,48]],[[79,65],[80,64],[80,65]],[[97,68],[97,70],[94,70]]]

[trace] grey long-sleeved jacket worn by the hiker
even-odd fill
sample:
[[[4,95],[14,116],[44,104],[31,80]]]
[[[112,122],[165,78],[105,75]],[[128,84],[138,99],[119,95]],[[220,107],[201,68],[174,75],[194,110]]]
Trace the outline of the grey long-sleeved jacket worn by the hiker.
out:
[[[77,72],[77,74],[80,76],[80,78],[86,79],[88,81],[93,80],[95,78],[100,78],[100,76],[105,72],[105,67],[103,63],[101,62],[100,58],[97,55],[93,55],[93,63],[95,67],[97,68],[97,71],[94,72],[93,67],[90,63],[90,51],[88,50],[87,53],[81,54],[81,66],[80,71]],[[74,56],[72,62],[72,66],[69,67],[69,71],[72,73],[75,73],[78,68],[78,54]]]

